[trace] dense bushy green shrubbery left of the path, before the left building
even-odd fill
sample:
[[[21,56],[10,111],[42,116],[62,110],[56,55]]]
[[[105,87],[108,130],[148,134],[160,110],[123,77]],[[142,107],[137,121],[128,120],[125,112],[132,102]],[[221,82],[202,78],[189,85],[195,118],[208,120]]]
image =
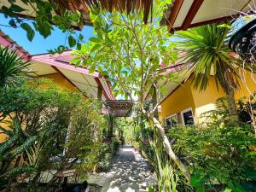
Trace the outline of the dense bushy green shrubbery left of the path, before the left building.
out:
[[[49,169],[59,172],[76,168],[81,179],[93,171],[101,156],[102,129],[107,126],[97,102],[61,90],[49,81],[32,80],[2,89],[0,103],[1,125],[5,125],[1,134],[9,136],[0,144],[1,157],[9,152],[13,157],[9,165],[20,159],[17,168],[32,167],[32,174],[26,174],[30,182],[42,181],[41,173]],[[15,143],[9,144],[13,140]],[[55,175],[49,183],[54,181]]]

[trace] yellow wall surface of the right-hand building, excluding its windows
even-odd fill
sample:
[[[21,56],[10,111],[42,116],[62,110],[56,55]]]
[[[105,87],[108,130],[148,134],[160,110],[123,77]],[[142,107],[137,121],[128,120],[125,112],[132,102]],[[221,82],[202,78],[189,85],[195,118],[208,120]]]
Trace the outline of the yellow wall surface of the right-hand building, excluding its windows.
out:
[[[213,77],[209,80],[207,90],[200,92],[193,89],[190,85],[192,77],[190,77],[183,86],[179,86],[172,92],[170,96],[161,102],[162,120],[175,113],[181,113],[184,109],[192,108],[195,123],[201,122],[201,113],[215,109],[215,102],[219,97],[225,96],[224,90],[218,86],[218,90]],[[256,75],[241,70],[240,90],[236,91],[235,99],[240,99],[243,96],[250,96],[256,91]],[[246,85],[245,85],[246,84]],[[179,123],[181,121],[179,120]]]

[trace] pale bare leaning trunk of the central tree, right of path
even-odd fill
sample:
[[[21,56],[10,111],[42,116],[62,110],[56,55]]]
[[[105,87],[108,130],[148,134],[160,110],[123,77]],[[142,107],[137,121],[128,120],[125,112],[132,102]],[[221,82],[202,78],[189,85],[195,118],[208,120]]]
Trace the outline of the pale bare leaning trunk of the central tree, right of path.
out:
[[[175,164],[177,165],[179,170],[183,173],[183,176],[190,182],[190,177],[191,177],[190,173],[187,170],[187,168],[183,165],[181,160],[178,159],[177,155],[173,152],[171,144],[168,140],[168,137],[166,137],[166,133],[165,133],[162,125],[160,125],[160,122],[157,119],[155,119],[152,115],[147,113],[144,109],[142,109],[142,112],[144,115],[146,115],[148,117],[148,119],[152,120],[154,126],[157,128],[157,131],[160,133],[160,137],[163,140],[163,143],[164,143],[164,146],[166,149],[166,153],[175,162]]]

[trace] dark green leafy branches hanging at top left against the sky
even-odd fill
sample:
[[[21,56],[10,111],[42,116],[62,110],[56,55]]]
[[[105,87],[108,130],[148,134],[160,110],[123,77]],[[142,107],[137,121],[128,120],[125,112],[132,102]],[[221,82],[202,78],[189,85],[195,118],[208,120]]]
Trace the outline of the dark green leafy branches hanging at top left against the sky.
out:
[[[34,13],[34,21],[20,18],[20,13],[28,10],[29,8]],[[58,15],[55,10],[58,9]],[[1,11],[6,18],[9,18],[9,25],[12,27],[21,27],[26,31],[26,38],[29,41],[35,36],[35,32],[39,32],[44,38],[48,38],[54,30],[53,24],[62,32],[66,32],[68,37],[69,47],[77,45],[79,48],[80,43],[83,41],[83,35],[74,31],[75,26],[82,24],[82,16],[79,11],[72,13],[70,10],[63,9],[57,4],[44,0],[23,0],[17,3],[16,1],[9,1],[9,7],[2,6]],[[64,47],[65,49],[61,49]],[[60,45],[60,47],[49,50],[54,53],[61,53],[68,49],[67,45]]]

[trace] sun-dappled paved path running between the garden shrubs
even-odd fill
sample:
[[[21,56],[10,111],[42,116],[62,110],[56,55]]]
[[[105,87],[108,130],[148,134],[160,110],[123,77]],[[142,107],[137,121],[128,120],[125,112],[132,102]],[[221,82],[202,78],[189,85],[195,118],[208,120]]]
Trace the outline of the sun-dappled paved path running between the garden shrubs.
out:
[[[119,148],[101,192],[146,192],[156,183],[148,162],[131,146]]]

